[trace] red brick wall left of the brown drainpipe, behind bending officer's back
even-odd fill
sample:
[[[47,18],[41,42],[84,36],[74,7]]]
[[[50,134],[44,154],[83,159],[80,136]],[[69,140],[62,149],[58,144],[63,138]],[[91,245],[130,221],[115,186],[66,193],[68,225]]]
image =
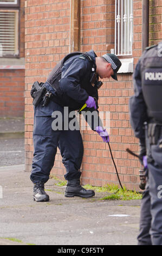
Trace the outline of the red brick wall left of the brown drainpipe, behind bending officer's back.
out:
[[[34,81],[45,82],[50,70],[69,52],[70,2],[38,0],[25,4],[25,168],[31,170],[34,112],[30,89]],[[54,173],[63,179],[59,157]]]

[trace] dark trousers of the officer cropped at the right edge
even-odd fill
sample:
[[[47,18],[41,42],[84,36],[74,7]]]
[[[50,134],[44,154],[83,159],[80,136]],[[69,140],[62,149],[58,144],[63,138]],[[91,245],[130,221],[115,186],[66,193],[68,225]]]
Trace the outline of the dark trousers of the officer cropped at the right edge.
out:
[[[138,245],[162,245],[162,147],[160,136],[151,145],[153,162],[148,164],[146,190],[141,202]]]

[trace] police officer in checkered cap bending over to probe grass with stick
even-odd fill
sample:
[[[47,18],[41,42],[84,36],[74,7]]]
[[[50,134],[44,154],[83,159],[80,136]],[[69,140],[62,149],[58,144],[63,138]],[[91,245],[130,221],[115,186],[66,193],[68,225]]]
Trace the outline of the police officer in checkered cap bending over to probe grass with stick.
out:
[[[80,167],[83,157],[83,142],[79,129],[69,129],[72,118],[62,120],[61,129],[53,129],[52,123],[56,111],[64,117],[68,113],[80,109],[83,105],[89,111],[97,113],[97,125],[92,121],[91,128],[98,132],[107,142],[108,133],[102,127],[98,112],[98,89],[102,85],[100,78],[113,77],[121,66],[114,54],[97,57],[93,50],[87,53],[70,53],[59,62],[49,74],[46,83],[34,84],[31,95],[34,97],[34,157],[31,181],[34,183],[33,198],[36,201],[48,201],[44,192],[44,183],[48,181],[50,170],[54,166],[57,147],[60,149],[62,162],[66,168],[64,178],[67,186],[66,197],[92,197],[93,190],[85,190],[80,185]],[[36,87],[36,88],[35,88]],[[45,91],[45,95],[44,95]],[[43,96],[42,96],[43,95]],[[66,108],[65,108],[66,107]],[[84,110],[84,109],[83,109]],[[69,115],[70,116],[70,115]],[[64,128],[66,127],[66,128]]]

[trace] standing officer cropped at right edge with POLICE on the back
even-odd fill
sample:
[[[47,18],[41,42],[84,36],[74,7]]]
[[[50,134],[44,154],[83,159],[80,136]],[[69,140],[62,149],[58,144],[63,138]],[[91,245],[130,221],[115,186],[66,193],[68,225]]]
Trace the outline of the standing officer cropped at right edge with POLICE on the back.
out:
[[[147,47],[134,71],[129,100],[131,125],[147,154],[147,182],[142,196],[138,245],[162,245],[162,55],[161,43]],[[148,126],[147,126],[148,124]],[[148,127],[148,129],[147,129]],[[145,130],[144,130],[145,128]]]

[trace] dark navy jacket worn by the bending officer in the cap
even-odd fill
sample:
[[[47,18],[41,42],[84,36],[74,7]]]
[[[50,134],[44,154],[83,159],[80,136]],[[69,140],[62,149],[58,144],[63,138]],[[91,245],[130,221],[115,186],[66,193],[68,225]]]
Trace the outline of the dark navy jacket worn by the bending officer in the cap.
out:
[[[88,54],[95,64],[95,52],[91,50]],[[53,71],[51,71],[47,78],[47,82],[49,84],[52,84],[52,72]],[[88,96],[96,98],[96,107],[98,109],[98,89],[93,87],[90,83],[91,76],[92,64],[87,58],[80,58],[80,54],[78,54],[68,58],[63,64],[61,79],[59,81],[62,95],[58,95],[57,92],[55,92],[55,90],[47,83],[45,83],[45,87],[48,91],[53,93],[53,99],[56,99],[56,103],[59,103],[61,106],[67,106],[72,111],[83,106],[88,99]],[[50,102],[49,107],[52,109],[52,102]],[[36,109],[36,112],[37,110],[38,109]],[[95,111],[94,108],[90,108],[89,110],[91,112]],[[39,112],[40,111],[42,112],[42,109],[40,109]],[[96,110],[96,113],[98,114],[98,125],[102,126],[98,110]],[[90,126],[93,130],[95,129],[93,123]]]

